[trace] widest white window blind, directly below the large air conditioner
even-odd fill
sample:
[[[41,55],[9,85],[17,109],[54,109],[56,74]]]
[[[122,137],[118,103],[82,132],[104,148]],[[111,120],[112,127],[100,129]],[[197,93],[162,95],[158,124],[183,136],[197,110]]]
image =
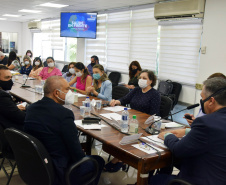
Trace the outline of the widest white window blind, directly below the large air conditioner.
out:
[[[202,34],[200,20],[160,24],[159,74],[170,79],[194,85],[199,71],[199,53]]]

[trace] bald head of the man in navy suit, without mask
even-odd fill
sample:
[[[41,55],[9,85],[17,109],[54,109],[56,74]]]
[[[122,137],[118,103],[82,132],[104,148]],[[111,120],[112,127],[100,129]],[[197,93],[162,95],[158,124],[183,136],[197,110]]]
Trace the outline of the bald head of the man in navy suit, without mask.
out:
[[[54,90],[61,90],[64,86],[68,86],[68,82],[62,76],[51,76],[45,81],[44,96],[49,96]]]

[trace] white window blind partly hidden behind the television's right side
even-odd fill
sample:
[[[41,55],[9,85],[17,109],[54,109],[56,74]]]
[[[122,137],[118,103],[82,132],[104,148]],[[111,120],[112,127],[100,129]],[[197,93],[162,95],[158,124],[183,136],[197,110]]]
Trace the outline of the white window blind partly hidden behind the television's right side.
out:
[[[97,15],[97,37],[96,39],[86,39],[86,65],[90,63],[90,58],[97,55],[99,63],[106,67],[106,14]]]

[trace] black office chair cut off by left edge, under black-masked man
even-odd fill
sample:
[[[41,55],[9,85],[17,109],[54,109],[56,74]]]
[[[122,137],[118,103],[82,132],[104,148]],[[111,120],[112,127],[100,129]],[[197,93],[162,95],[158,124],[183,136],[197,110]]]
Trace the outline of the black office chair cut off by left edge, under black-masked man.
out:
[[[0,164],[0,170],[2,169],[8,179],[6,185],[8,185],[11,181],[12,175],[14,173],[14,170],[16,168],[16,162],[14,158],[13,151],[5,138],[4,135],[4,128],[0,124],[0,158],[2,158],[1,164]],[[6,170],[4,166],[4,162],[8,161],[9,166],[11,167],[11,171],[8,173],[8,170]]]

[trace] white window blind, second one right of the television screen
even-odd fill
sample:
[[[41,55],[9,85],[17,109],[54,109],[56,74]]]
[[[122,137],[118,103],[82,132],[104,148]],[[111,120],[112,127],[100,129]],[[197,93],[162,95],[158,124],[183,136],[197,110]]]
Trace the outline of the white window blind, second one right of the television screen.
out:
[[[107,18],[107,69],[128,71],[131,11],[110,13]]]

